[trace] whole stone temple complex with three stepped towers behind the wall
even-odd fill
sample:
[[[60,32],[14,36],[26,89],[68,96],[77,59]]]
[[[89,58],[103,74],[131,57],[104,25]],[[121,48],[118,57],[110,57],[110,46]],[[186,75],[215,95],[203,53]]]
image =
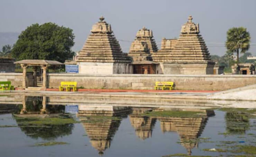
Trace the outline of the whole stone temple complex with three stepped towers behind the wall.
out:
[[[92,26],[80,53],[74,61],[79,73],[101,74],[219,74],[205,42],[199,24],[192,16],[182,25],[178,39],[163,38],[158,50],[153,31],[143,27],[136,33],[129,53],[123,53],[110,24],[100,17]],[[214,72],[215,69],[215,72]],[[220,70],[220,72],[219,72]]]

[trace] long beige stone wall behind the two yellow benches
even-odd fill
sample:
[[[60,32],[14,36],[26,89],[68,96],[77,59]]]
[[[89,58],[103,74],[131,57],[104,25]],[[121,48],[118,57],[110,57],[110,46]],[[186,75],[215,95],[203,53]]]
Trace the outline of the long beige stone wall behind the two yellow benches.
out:
[[[76,81],[77,87],[87,89],[154,89],[156,81],[173,81],[177,90],[228,90],[256,84],[256,75],[48,73],[47,79],[49,88],[58,88],[61,81]]]

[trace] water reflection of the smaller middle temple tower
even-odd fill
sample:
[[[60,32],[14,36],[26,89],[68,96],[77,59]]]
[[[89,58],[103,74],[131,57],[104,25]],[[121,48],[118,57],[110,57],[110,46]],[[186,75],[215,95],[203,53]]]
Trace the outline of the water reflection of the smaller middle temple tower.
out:
[[[156,119],[146,116],[140,116],[152,108],[132,108],[132,114],[129,115],[131,126],[134,127],[136,135],[140,139],[146,139],[152,136],[153,127],[155,126]]]

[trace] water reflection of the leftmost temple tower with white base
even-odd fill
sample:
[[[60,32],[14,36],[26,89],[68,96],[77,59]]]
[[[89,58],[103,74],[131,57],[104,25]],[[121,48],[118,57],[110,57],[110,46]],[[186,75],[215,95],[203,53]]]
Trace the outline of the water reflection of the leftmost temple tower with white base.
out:
[[[110,147],[111,140],[119,128],[120,117],[127,116],[129,112],[129,107],[81,105],[77,115],[92,147],[97,149],[99,154],[103,154],[103,151]]]

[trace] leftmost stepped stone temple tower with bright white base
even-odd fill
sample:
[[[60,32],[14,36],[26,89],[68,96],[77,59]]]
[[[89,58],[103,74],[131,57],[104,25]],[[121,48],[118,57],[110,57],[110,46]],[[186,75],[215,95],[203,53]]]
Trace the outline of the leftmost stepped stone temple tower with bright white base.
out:
[[[100,17],[77,56],[79,73],[131,73],[131,59],[123,53],[110,24]]]

